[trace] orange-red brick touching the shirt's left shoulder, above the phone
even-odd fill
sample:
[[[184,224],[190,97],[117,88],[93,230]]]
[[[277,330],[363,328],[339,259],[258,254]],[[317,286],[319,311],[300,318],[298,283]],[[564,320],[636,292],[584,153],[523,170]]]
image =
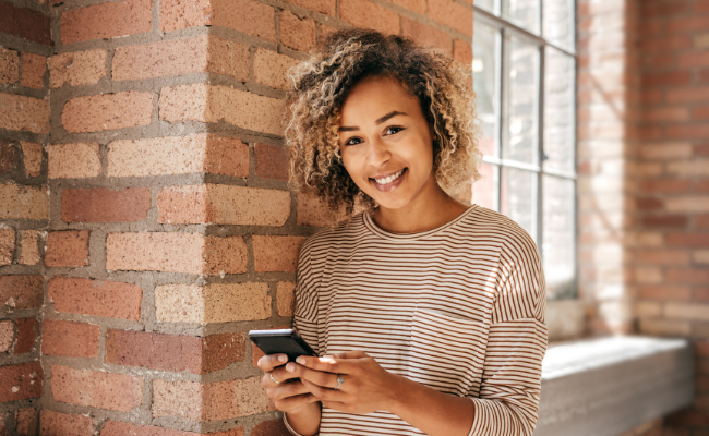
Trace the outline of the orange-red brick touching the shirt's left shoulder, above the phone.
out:
[[[253,259],[256,272],[295,272],[298,254],[305,238],[253,235]]]

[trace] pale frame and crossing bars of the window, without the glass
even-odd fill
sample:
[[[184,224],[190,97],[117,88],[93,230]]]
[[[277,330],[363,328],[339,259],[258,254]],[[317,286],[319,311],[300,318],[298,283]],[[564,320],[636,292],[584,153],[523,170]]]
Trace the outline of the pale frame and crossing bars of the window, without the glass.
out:
[[[572,217],[572,234],[573,234],[573,246],[572,246],[572,252],[574,253],[575,259],[574,259],[574,270],[573,270],[573,280],[570,284],[570,290],[568,293],[564,293],[561,296],[552,296],[552,300],[566,300],[566,299],[577,299],[578,298],[578,287],[577,287],[577,281],[578,281],[578,272],[579,272],[579,266],[578,266],[578,216],[579,216],[579,210],[578,210],[578,201],[577,201],[577,189],[578,189],[578,183],[577,183],[577,178],[578,178],[578,165],[576,161],[577,158],[577,122],[578,122],[578,110],[577,110],[577,98],[578,98],[578,87],[577,87],[577,74],[578,74],[578,53],[576,51],[576,44],[577,44],[577,38],[576,38],[576,7],[577,7],[577,1],[576,0],[566,0],[568,2],[568,10],[569,10],[569,15],[572,20],[569,20],[569,25],[573,25],[573,32],[570,37],[570,47],[565,48],[562,45],[555,44],[551,40],[548,40],[543,36],[544,32],[544,22],[543,22],[543,0],[537,0],[537,5],[538,5],[538,14],[537,14],[537,32],[531,32],[529,29],[526,29],[521,27],[518,24],[515,24],[513,21],[510,21],[508,17],[504,16],[502,14],[502,2],[503,0],[494,0],[493,9],[494,11],[490,11],[483,7],[479,7],[477,4],[473,4],[473,12],[474,12],[474,20],[473,20],[473,40],[474,40],[474,29],[477,28],[477,24],[484,24],[493,29],[496,29],[496,37],[495,37],[495,85],[494,85],[494,100],[493,100],[493,106],[495,107],[495,120],[497,125],[495,126],[495,132],[494,132],[494,155],[495,156],[488,156],[483,155],[483,162],[489,164],[491,166],[496,167],[496,180],[495,180],[495,195],[494,195],[494,207],[496,210],[501,210],[501,193],[503,189],[503,169],[506,168],[513,168],[513,169],[519,169],[519,170],[525,170],[529,171],[532,173],[537,174],[536,178],[536,189],[534,195],[536,198],[533,199],[533,205],[536,207],[536,210],[532,210],[532,216],[536,215],[534,220],[533,220],[533,237],[537,240],[537,245],[538,250],[540,252],[540,255],[542,256],[542,263],[544,262],[544,252],[543,252],[543,231],[544,231],[544,221],[543,221],[543,201],[544,201],[544,193],[543,193],[543,177],[544,175],[551,175],[564,180],[569,180],[573,184],[573,205],[570,206],[570,210],[574,214]],[[506,44],[507,44],[507,38],[509,36],[514,36],[516,38],[519,38],[520,40],[524,40],[528,44],[531,44],[537,47],[537,56],[539,59],[539,65],[538,65],[538,76],[537,76],[537,89],[538,89],[538,95],[537,95],[537,107],[536,107],[536,117],[537,117],[537,134],[536,134],[536,142],[537,142],[537,156],[536,156],[536,164],[526,164],[526,162],[520,162],[517,160],[512,160],[512,159],[504,159],[502,156],[502,141],[504,138],[505,134],[505,129],[508,129],[507,122],[505,122],[505,111],[508,110],[508,108],[504,107],[504,101],[505,101],[505,92],[509,89],[509,77],[505,74],[505,50],[507,49]],[[545,74],[545,60],[546,60],[546,49],[548,47],[551,47],[555,50],[558,50],[561,53],[566,55],[569,57],[572,60],[572,66],[573,66],[573,72],[572,72],[572,77],[569,77],[570,82],[570,106],[574,110],[574,116],[569,117],[570,120],[570,160],[573,162],[573,168],[574,170],[572,172],[569,171],[561,171],[556,169],[551,169],[551,168],[544,168],[545,166],[543,165],[544,160],[546,159],[546,156],[544,155],[544,74]],[[474,52],[473,52],[473,59],[474,59]],[[494,172],[493,172],[494,173]],[[534,214],[536,213],[536,214]]]

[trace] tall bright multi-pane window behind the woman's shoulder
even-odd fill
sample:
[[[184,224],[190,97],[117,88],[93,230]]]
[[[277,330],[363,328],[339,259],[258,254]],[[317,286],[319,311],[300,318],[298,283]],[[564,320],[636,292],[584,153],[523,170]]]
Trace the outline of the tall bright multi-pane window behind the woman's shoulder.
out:
[[[576,293],[575,2],[477,0],[473,86],[483,178],[472,202],[534,239],[548,296]]]

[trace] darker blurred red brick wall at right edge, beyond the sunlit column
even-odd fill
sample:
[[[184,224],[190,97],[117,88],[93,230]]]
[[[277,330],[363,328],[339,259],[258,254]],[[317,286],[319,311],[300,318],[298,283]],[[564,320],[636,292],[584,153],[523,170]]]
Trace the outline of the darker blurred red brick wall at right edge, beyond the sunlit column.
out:
[[[642,334],[684,336],[696,350],[695,405],[665,432],[709,432],[709,1],[644,1],[641,119],[634,226],[658,245],[630,251]]]

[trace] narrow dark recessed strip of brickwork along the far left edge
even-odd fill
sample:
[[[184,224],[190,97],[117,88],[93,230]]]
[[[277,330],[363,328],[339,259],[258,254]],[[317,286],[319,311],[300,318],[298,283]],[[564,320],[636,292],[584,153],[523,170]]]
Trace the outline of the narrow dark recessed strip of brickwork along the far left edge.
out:
[[[35,434],[49,222],[49,8],[0,1],[0,434]]]

